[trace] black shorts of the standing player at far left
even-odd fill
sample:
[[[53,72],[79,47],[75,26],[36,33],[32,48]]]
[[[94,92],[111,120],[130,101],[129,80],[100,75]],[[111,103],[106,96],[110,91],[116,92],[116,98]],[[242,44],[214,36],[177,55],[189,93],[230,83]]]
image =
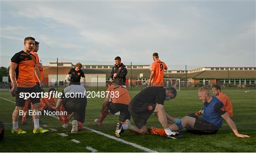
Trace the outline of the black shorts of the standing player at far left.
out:
[[[26,102],[26,99],[24,99],[25,96],[24,96],[24,98],[20,98],[19,93],[35,93],[36,94],[35,98],[29,97],[30,102],[32,104],[40,102],[40,98],[37,98],[37,93],[39,93],[37,85],[35,85],[33,87],[17,87],[17,92],[15,93],[16,106],[24,107],[25,106],[25,102]],[[32,95],[32,96],[34,97],[34,95]]]

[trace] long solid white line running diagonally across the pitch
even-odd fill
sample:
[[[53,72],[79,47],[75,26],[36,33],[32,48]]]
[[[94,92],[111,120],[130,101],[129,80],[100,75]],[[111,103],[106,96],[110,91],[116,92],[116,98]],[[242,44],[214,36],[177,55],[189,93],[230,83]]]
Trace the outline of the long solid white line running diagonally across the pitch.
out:
[[[2,98],[2,97],[0,97],[0,98]],[[5,98],[2,98],[2,99],[9,101],[8,99],[5,99]],[[12,102],[12,101],[9,101],[9,102]],[[16,103],[16,102],[13,102],[13,103]],[[53,117],[53,118],[55,118],[55,119],[58,119],[56,116],[53,116],[53,115],[49,115],[49,116],[51,116],[51,117]],[[106,137],[108,137],[108,138],[110,138],[110,139],[114,139],[114,140],[119,141],[119,142],[121,142],[121,143],[123,143],[123,144],[128,144],[128,145],[131,145],[131,146],[133,146],[133,147],[135,147],[135,148],[138,148],[138,149],[140,149],[140,150],[144,150],[145,152],[157,153],[157,151],[155,151],[155,150],[151,150],[151,149],[146,148],[146,147],[143,147],[143,146],[141,146],[141,145],[134,144],[134,143],[125,141],[125,140],[123,140],[123,139],[119,139],[119,138],[117,138],[117,137],[115,137],[115,136],[110,136],[110,135],[105,134],[105,133],[102,133],[102,132],[100,132],[100,131],[96,131],[96,130],[94,130],[94,129],[92,129],[92,128],[85,127],[85,126],[83,126],[83,128],[85,128],[85,129],[87,129],[87,130],[89,130],[89,131],[91,131],[91,132],[95,132],[95,133],[97,133],[97,134],[99,134],[99,135],[106,136]]]

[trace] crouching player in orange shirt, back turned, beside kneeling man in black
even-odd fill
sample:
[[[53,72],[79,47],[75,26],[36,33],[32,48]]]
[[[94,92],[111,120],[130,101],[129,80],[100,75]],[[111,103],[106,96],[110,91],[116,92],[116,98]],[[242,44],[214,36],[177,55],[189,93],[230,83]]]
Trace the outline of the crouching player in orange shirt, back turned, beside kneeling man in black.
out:
[[[128,105],[130,101],[130,95],[125,87],[117,85],[116,82],[109,82],[106,98],[104,99],[101,107],[101,116],[100,119],[94,120],[95,124],[100,126],[102,121],[109,114],[109,110],[111,114],[115,114],[120,111],[119,120],[121,122],[125,122],[128,119],[127,122],[129,123],[131,115],[128,110]]]

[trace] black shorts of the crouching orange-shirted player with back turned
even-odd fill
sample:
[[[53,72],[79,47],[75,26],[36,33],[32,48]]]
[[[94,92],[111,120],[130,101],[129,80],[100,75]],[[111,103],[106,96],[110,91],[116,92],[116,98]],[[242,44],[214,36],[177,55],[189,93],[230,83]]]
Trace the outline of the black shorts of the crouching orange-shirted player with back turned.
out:
[[[111,114],[115,114],[120,111],[119,120],[121,122],[124,122],[126,119],[131,119],[128,105],[122,103],[108,102],[107,107],[110,110]]]

